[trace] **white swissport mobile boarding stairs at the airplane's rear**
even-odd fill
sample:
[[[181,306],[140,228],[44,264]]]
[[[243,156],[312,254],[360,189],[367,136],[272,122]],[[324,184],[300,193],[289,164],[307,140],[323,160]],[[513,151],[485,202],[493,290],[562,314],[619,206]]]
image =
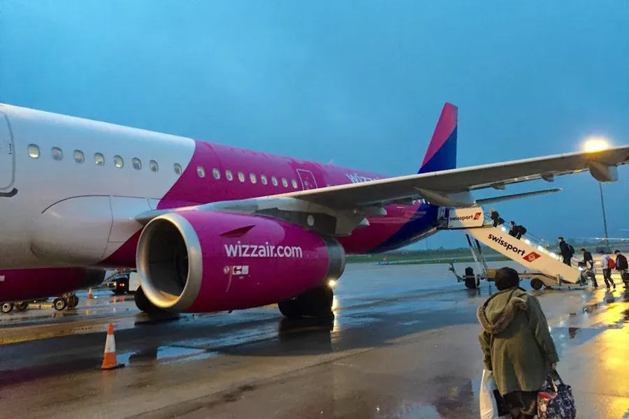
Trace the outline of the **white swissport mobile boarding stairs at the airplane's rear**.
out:
[[[487,266],[481,243],[528,268],[519,272],[519,275],[521,279],[530,279],[530,286],[535,290],[542,286],[588,284],[588,272],[578,267],[576,261],[566,265],[560,256],[548,249],[549,244],[545,244],[543,240],[528,234],[517,239],[509,235],[505,226],[494,227],[493,221],[486,218],[482,207],[444,208],[440,214],[439,229],[463,230],[467,236],[472,257],[481,272],[472,281],[465,280],[468,288],[477,288],[479,279],[493,281],[496,277],[496,270]],[[454,266],[451,270],[454,272]],[[458,275],[456,277],[460,278]]]

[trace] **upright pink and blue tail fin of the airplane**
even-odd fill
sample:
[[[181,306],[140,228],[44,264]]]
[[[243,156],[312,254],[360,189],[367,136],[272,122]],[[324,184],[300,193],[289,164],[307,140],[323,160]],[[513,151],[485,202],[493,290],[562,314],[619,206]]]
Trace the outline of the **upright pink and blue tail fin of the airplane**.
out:
[[[445,103],[418,173],[456,168],[457,126],[458,108],[451,103]]]

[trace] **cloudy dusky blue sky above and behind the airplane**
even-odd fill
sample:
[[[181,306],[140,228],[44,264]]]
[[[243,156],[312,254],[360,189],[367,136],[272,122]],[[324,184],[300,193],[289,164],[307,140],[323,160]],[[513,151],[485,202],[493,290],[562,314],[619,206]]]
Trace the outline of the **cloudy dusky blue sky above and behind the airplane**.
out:
[[[629,144],[624,2],[5,0],[0,13],[5,103],[385,175],[417,172],[445,101],[459,166],[588,135]],[[611,237],[629,228],[619,172],[604,185]],[[564,191],[496,208],[549,240],[602,236],[590,175],[550,186]]]

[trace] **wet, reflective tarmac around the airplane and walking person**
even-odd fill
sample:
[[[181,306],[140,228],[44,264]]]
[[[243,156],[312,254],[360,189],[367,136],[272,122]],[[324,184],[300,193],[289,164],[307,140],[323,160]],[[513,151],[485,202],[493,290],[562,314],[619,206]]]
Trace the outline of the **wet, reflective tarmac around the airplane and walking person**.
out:
[[[350,264],[329,323],[273,306],[151,321],[107,291],[0,314],[0,418],[478,418],[475,311],[496,288],[447,268]],[[531,292],[578,417],[629,418],[629,293]],[[101,371],[109,322],[125,367]]]

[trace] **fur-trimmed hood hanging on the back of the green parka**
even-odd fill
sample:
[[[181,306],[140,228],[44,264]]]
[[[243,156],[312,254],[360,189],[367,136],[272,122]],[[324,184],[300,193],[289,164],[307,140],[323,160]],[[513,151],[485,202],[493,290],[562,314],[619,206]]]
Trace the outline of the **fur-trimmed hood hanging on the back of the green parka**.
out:
[[[505,290],[492,295],[481,307],[476,316],[485,332],[498,335],[503,332],[518,310],[526,311],[528,305],[526,291],[521,288]]]

